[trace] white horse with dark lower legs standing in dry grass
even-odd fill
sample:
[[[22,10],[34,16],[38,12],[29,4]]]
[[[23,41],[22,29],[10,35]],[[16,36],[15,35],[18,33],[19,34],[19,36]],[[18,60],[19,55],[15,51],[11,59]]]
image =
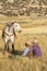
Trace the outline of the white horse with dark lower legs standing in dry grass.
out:
[[[14,51],[15,31],[22,32],[19,23],[8,23],[2,29],[2,38],[4,40],[4,51],[9,50],[9,42],[12,42],[12,51]]]

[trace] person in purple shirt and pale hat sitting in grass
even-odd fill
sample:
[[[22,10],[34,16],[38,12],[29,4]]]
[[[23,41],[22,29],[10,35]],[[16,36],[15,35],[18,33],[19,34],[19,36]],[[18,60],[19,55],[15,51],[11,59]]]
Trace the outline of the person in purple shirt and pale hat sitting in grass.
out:
[[[36,57],[42,57],[42,50],[40,50],[40,47],[39,47],[39,45],[38,45],[37,39],[35,39],[35,40],[33,42],[32,50],[33,50],[33,55],[34,55],[34,56],[36,56]]]

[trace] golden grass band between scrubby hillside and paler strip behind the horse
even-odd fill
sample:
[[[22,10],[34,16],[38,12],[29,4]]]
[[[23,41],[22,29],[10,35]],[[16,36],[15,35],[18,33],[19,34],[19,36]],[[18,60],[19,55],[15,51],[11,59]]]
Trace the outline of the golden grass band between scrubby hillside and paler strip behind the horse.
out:
[[[5,16],[5,15],[0,15],[0,24],[7,24],[9,22],[15,22],[17,21],[22,27],[34,27],[34,26],[42,26],[42,25],[47,25],[47,16]],[[0,26],[1,27],[1,26]]]

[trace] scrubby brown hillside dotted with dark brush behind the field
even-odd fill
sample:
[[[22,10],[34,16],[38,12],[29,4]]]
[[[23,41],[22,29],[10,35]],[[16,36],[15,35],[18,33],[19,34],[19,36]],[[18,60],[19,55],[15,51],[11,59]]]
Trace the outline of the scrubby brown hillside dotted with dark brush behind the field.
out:
[[[47,15],[47,0],[0,0],[0,13],[5,15]]]

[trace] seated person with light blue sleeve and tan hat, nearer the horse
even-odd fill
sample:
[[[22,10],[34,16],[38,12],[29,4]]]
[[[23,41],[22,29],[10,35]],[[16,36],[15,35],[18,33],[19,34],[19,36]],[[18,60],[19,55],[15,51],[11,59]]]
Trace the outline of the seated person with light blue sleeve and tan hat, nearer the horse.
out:
[[[31,43],[26,42],[25,43],[25,49],[24,49],[22,56],[27,56],[27,57],[32,58],[32,55],[33,55],[33,51],[32,51]]]

